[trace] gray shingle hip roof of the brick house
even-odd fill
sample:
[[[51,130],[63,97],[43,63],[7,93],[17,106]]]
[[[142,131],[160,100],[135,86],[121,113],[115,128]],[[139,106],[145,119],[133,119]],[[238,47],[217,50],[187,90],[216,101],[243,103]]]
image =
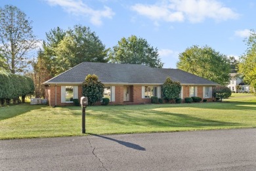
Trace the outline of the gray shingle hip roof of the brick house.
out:
[[[217,85],[181,69],[152,68],[138,64],[111,64],[82,62],[81,64],[46,81],[45,84],[83,83],[88,74],[95,74],[104,83],[163,84],[167,77],[182,85]]]

